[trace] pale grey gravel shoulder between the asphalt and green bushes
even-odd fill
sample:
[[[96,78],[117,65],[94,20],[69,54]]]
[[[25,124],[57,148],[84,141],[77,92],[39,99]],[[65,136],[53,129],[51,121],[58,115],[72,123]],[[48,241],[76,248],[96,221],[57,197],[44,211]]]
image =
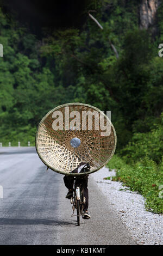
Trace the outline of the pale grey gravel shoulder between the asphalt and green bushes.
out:
[[[145,199],[141,194],[131,192],[128,187],[122,186],[122,182],[103,179],[115,175],[115,170],[109,171],[103,167],[92,173],[91,177],[126,224],[137,245],[163,245],[163,216],[146,211]]]

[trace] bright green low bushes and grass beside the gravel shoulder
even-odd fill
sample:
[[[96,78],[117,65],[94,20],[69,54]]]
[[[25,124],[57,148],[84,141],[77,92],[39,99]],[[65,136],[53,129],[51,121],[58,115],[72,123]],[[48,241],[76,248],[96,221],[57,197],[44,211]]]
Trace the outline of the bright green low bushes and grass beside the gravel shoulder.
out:
[[[146,210],[155,214],[163,213],[163,161],[158,165],[145,157],[136,163],[127,164],[122,157],[114,155],[108,167],[116,169],[113,181],[121,181],[131,191],[142,194],[146,199]]]

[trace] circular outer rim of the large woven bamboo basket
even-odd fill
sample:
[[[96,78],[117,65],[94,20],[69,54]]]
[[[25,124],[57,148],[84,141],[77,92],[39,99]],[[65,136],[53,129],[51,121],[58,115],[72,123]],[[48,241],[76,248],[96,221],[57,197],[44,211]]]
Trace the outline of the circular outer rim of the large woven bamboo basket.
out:
[[[90,107],[90,108],[93,108],[95,109],[96,111],[98,111],[99,113],[101,113],[102,115],[104,115],[104,117],[109,121],[111,127],[112,127],[112,130],[114,132],[114,149],[112,150],[112,153],[111,155],[108,157],[108,159],[104,162],[104,164],[102,164],[102,166],[100,166],[99,168],[95,169],[95,170],[90,170],[90,172],[86,172],[86,173],[67,173],[67,172],[63,172],[61,170],[58,170],[58,169],[55,169],[53,167],[50,167],[47,162],[45,160],[42,159],[42,157],[40,156],[40,153],[39,151],[37,150],[37,147],[38,147],[38,144],[37,144],[37,137],[38,137],[38,133],[39,133],[39,129],[40,129],[40,126],[41,124],[43,123],[43,121],[45,121],[45,119],[48,117],[49,114],[51,114],[52,112],[56,111],[57,109],[61,108],[61,107],[66,107],[66,106],[72,106],[72,105],[80,105],[80,106],[86,106],[86,107]],[[49,111],[40,121],[39,125],[37,126],[37,131],[36,131],[36,136],[35,136],[35,148],[36,148],[36,152],[37,154],[39,155],[41,161],[51,170],[53,170],[54,172],[57,172],[57,173],[60,173],[62,175],[71,175],[71,176],[77,176],[77,175],[88,175],[88,174],[91,174],[91,173],[94,173],[96,172],[97,170],[103,168],[106,163],[108,163],[112,156],[114,155],[115,153],[115,150],[116,150],[116,144],[117,144],[117,136],[116,136],[116,131],[115,131],[115,128],[114,128],[114,125],[111,123],[111,120],[107,117],[107,115],[105,115],[104,112],[102,112],[99,108],[97,107],[94,107],[94,106],[91,106],[89,104],[86,104],[86,103],[80,103],[80,102],[72,102],[72,103],[66,103],[66,104],[62,104],[60,106],[57,106],[53,109],[51,109],[51,111]]]

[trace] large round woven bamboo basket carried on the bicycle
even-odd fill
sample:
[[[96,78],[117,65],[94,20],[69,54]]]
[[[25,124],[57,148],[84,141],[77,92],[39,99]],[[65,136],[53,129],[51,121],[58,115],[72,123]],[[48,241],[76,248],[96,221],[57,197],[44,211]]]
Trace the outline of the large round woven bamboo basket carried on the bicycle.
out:
[[[71,127],[66,126],[65,107],[68,107],[70,113],[77,111],[80,114],[80,117],[79,115],[78,117],[77,115],[75,116],[80,123],[80,129],[79,127],[71,129]],[[62,113],[63,130],[53,129],[53,121],[55,120],[53,113],[55,111]],[[99,116],[101,115],[104,119],[104,125],[110,125],[110,134],[103,136],[104,127],[101,126],[97,130],[97,120],[93,115],[92,129],[89,130],[89,124],[86,120],[86,127],[83,130],[82,113],[85,111],[96,111]],[[69,119],[71,122],[74,118],[71,117]],[[70,144],[71,139],[74,137],[79,138],[81,141],[77,149],[74,149]],[[52,109],[42,118],[37,128],[35,143],[37,154],[47,167],[61,174],[77,176],[83,174],[72,174],[71,171],[77,168],[80,162],[90,164],[91,169],[87,174],[96,172],[109,162],[116,148],[116,132],[110,119],[98,108],[83,103],[67,103]]]

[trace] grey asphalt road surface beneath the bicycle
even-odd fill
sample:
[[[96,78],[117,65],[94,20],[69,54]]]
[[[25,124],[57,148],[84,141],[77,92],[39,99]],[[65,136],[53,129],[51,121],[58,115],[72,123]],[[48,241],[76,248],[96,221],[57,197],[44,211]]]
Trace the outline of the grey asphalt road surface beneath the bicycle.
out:
[[[35,148],[0,148],[0,245],[135,245],[89,176],[90,220],[71,217],[63,175],[48,170]]]

